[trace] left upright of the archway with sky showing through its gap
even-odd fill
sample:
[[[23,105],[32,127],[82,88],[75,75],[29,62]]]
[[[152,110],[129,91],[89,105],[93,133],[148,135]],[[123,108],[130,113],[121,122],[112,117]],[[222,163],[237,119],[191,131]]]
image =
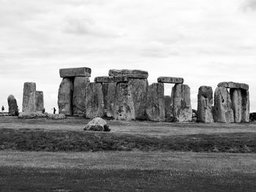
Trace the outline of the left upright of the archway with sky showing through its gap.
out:
[[[149,120],[165,120],[165,87],[162,82],[148,86],[146,114]]]

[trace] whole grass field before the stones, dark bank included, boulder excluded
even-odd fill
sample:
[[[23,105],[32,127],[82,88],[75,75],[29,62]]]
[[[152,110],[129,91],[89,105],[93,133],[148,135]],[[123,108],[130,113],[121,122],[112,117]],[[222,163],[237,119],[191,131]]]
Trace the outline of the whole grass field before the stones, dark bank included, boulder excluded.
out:
[[[0,191],[255,191],[254,123],[88,121],[0,117]]]

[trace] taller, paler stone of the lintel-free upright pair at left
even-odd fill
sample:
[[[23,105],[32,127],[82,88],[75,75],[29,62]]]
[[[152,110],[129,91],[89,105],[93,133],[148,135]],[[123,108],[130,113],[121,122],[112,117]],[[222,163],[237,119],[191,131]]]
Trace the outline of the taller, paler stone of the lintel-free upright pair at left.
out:
[[[36,83],[25,82],[23,87],[22,111],[35,112],[36,111],[35,99],[36,99]]]

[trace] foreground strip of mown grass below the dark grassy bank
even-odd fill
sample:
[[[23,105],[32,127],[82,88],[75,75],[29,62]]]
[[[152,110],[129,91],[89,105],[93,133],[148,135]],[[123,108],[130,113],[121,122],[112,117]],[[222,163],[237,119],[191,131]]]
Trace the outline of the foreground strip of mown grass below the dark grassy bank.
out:
[[[255,154],[0,154],[2,191],[254,191],[256,188]]]

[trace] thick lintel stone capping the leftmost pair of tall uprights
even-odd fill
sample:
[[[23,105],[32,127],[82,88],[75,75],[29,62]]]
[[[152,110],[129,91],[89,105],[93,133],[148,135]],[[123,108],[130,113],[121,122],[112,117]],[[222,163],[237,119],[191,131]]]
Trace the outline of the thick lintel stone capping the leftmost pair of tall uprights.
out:
[[[88,67],[59,69],[61,77],[91,77],[91,69]]]

